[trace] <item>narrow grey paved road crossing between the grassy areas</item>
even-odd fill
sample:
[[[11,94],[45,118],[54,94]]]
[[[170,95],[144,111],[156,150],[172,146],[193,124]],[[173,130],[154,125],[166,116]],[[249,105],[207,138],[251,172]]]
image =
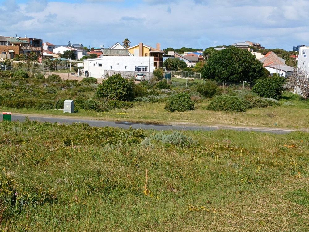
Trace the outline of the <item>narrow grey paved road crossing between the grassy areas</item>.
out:
[[[24,121],[27,115],[12,115],[12,120],[14,121]],[[228,129],[235,131],[259,131],[265,133],[274,134],[285,134],[292,131],[297,131],[295,129],[272,129],[272,128],[259,128],[259,127],[236,127],[236,126],[190,126],[190,125],[163,125],[163,124],[142,124],[133,122],[108,122],[100,120],[85,120],[78,118],[61,118],[61,117],[48,117],[48,116],[28,116],[31,121],[39,122],[58,122],[72,124],[74,122],[87,123],[93,127],[120,127],[128,129],[130,126],[134,129],[155,129],[155,130],[203,130],[203,131],[213,131],[219,129]],[[0,117],[2,120],[2,116]]]

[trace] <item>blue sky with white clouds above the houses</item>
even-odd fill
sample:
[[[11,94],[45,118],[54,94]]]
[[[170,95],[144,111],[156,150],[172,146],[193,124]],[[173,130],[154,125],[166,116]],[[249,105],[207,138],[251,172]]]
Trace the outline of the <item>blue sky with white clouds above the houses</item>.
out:
[[[0,0],[0,35],[161,49],[248,40],[290,51],[309,45],[308,9],[309,0]]]

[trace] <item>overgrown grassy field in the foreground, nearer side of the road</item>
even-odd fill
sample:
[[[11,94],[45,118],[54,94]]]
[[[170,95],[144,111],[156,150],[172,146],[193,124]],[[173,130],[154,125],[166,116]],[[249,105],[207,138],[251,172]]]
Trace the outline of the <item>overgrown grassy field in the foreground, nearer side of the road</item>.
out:
[[[309,230],[307,133],[164,133],[0,122],[2,230]]]

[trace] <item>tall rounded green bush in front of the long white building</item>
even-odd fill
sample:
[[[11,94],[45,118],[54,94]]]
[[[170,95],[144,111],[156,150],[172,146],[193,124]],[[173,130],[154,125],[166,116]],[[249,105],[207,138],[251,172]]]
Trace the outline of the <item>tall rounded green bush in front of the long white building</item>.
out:
[[[103,80],[96,90],[98,97],[107,97],[112,100],[130,101],[134,98],[134,83],[114,74]]]

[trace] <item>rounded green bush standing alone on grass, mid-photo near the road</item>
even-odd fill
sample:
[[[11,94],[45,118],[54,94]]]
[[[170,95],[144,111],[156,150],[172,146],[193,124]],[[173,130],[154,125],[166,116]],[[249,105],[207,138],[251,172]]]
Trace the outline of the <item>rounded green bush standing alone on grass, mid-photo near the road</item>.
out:
[[[194,110],[194,103],[187,93],[178,93],[171,95],[164,107],[165,110],[170,112],[184,112],[186,110]]]

